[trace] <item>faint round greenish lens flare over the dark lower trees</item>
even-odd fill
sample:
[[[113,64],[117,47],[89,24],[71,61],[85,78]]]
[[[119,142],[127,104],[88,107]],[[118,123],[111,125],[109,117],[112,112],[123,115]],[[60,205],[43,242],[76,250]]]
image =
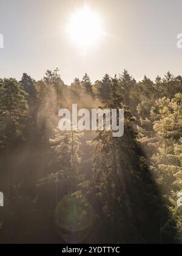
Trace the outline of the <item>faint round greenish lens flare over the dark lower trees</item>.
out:
[[[85,198],[69,195],[56,207],[55,220],[58,232],[68,243],[80,243],[90,232],[93,210]]]

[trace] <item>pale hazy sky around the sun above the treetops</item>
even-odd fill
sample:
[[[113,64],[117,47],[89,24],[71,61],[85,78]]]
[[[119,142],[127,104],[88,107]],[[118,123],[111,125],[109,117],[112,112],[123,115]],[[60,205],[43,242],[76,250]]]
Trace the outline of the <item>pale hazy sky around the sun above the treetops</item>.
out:
[[[181,74],[181,0],[88,0],[106,32],[86,55],[64,31],[67,19],[83,0],[0,0],[0,77],[36,80],[46,69],[60,69],[69,84],[87,72],[92,79],[126,68],[136,79],[155,78],[167,71]]]

